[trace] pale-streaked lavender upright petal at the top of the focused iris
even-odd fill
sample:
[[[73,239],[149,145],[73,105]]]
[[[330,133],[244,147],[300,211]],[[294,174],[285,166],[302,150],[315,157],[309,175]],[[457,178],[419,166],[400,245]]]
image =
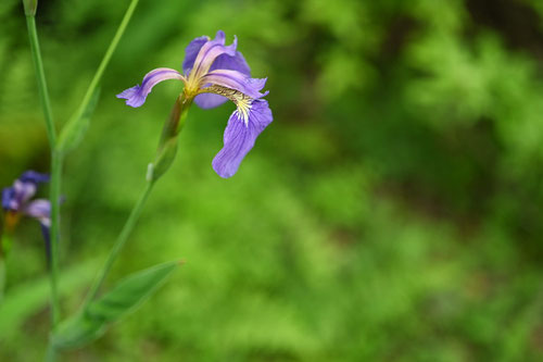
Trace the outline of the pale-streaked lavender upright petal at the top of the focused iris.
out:
[[[215,39],[206,41],[202,48],[200,48],[197,59],[194,60],[192,71],[190,72],[190,79],[199,79],[207,73],[217,57],[222,54],[235,57],[238,39],[233,37],[233,42],[229,46],[225,46],[225,33],[223,30],[218,30]]]

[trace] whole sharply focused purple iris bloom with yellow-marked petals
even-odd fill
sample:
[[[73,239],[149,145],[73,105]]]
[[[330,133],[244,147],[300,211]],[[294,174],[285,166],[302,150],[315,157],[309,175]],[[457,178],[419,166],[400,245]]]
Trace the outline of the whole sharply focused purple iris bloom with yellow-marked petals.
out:
[[[225,46],[225,33],[222,30],[213,40],[206,36],[195,38],[185,50],[182,74],[160,67],[146,74],[141,85],[117,95],[117,98],[126,99],[126,104],[140,107],[156,84],[177,79],[185,84],[185,97],[194,98],[202,109],[215,108],[231,100],[237,109],[228,120],[224,147],[212,163],[215,172],[225,178],[236,174],[256,137],[273,121],[268,102],[263,99],[268,92],[261,92],[266,78],[251,78],[251,70],[236,47],[236,37],[230,46]]]

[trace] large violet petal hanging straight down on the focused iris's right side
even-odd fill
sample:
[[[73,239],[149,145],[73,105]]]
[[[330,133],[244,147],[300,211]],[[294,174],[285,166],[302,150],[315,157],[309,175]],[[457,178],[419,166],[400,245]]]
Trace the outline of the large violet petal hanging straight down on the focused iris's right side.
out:
[[[264,99],[252,102],[247,123],[240,112],[235,111],[225,129],[225,146],[213,160],[213,170],[224,178],[233,176],[245,154],[253,148],[256,137],[272,121],[272,111]]]

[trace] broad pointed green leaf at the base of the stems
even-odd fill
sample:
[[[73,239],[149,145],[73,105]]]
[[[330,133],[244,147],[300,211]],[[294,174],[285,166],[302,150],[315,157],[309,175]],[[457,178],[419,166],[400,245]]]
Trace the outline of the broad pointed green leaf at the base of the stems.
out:
[[[178,265],[177,261],[164,263],[124,278],[81,313],[63,322],[53,335],[53,345],[71,349],[101,337],[110,323],[135,311],[151,297]]]

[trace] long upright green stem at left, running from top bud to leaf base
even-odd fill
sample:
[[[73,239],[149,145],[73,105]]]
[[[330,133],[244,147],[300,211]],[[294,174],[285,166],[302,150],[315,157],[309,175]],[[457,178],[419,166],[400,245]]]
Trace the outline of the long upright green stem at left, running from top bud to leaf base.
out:
[[[41,108],[43,109],[43,116],[46,118],[47,136],[51,148],[51,271],[49,276],[51,282],[51,324],[54,329],[61,319],[56,280],[59,276],[59,198],[62,160],[60,154],[54,151],[56,148],[56,133],[51,112],[51,102],[49,101],[46,72],[43,71],[43,62],[41,60],[41,52],[39,49],[36,18],[33,15],[27,15],[26,25],[28,27],[28,37],[30,39],[30,50],[38,80]]]

